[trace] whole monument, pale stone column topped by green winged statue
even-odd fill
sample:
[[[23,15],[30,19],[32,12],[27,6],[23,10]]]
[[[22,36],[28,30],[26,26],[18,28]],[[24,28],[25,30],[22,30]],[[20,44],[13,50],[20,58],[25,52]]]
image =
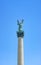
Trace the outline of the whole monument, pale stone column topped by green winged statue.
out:
[[[17,20],[18,25],[18,31],[17,31],[17,37],[18,37],[18,64],[17,65],[24,65],[24,45],[23,45],[23,37],[24,37],[24,31],[22,29],[23,20],[19,22]]]

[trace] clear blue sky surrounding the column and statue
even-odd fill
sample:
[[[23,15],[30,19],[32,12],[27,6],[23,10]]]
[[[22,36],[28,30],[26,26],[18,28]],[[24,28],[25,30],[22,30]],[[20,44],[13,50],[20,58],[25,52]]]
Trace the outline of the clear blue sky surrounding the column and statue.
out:
[[[0,65],[17,65],[17,19],[24,19],[25,65],[41,65],[41,0],[0,0]]]

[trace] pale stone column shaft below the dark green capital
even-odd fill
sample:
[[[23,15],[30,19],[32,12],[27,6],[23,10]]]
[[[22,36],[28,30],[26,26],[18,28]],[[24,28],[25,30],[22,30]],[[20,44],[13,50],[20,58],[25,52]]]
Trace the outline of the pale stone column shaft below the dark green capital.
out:
[[[18,38],[18,65],[24,65],[24,48],[23,38]]]

